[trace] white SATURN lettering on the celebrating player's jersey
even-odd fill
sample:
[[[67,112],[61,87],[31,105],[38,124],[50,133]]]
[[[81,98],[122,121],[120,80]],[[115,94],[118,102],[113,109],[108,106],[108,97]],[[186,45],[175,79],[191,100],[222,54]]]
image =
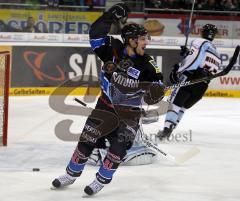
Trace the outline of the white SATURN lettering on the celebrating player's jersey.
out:
[[[116,72],[113,73],[113,81],[119,85],[122,85],[124,87],[130,87],[130,88],[138,88],[139,80],[130,79],[122,74],[118,74]]]

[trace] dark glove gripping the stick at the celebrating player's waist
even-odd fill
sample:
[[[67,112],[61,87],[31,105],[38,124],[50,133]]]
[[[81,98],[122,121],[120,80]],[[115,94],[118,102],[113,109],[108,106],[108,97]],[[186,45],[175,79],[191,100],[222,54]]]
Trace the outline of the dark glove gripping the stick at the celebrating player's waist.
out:
[[[153,105],[161,101],[165,94],[165,86],[161,82],[153,82],[144,94],[144,102]]]

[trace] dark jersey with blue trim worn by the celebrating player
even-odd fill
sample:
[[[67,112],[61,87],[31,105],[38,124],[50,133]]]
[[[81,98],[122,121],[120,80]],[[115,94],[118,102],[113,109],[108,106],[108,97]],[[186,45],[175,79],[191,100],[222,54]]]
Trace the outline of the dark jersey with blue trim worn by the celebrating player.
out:
[[[124,44],[108,36],[112,20],[104,13],[90,29],[90,44],[104,62],[116,63],[120,68],[109,74],[101,71],[103,97],[112,104],[139,106],[142,91],[152,82],[162,80],[160,68],[147,54],[128,56]]]

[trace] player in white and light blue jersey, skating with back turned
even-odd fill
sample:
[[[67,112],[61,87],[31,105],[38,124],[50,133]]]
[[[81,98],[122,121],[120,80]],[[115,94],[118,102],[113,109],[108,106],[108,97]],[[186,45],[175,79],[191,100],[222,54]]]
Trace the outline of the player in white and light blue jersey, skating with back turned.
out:
[[[173,84],[217,73],[221,60],[212,43],[217,32],[215,25],[206,24],[202,27],[202,38],[193,40],[190,49],[185,46],[181,47],[180,54],[184,58],[172,69],[170,81]],[[170,137],[173,129],[182,119],[185,110],[191,108],[203,97],[209,82],[204,81],[172,91],[169,97],[169,101],[172,103],[171,109],[166,114],[163,130],[157,134],[160,140]]]

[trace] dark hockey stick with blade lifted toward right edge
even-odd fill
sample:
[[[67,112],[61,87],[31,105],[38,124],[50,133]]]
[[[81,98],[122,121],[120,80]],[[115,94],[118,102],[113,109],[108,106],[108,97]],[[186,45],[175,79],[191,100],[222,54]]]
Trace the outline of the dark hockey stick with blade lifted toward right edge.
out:
[[[234,66],[234,64],[237,61],[238,55],[239,55],[239,51],[240,51],[240,46],[238,45],[235,48],[234,54],[232,56],[232,58],[230,59],[229,64],[226,66],[226,68],[224,68],[222,71],[220,71],[219,73],[216,73],[214,75],[210,75],[207,77],[203,77],[203,78],[199,78],[199,79],[195,79],[195,80],[190,80],[190,81],[186,81],[186,82],[179,82],[177,84],[173,84],[170,86],[166,86],[165,90],[168,89],[175,89],[175,88],[179,88],[179,87],[184,87],[184,86],[189,86],[189,85],[193,85],[193,84],[197,84],[199,82],[204,82],[204,81],[208,81],[208,80],[212,80],[216,77],[220,77],[220,76],[224,76],[226,74],[229,73],[229,71],[232,69],[232,67]]]

